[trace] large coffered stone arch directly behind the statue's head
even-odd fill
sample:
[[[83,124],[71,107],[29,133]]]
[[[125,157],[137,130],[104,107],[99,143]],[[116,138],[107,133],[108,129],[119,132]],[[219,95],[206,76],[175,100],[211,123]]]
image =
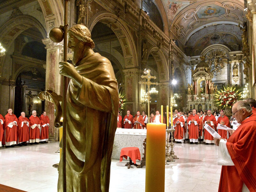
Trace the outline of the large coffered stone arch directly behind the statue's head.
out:
[[[133,36],[127,25],[115,14],[101,11],[96,13],[89,21],[88,29],[92,31],[97,22],[106,24],[117,36],[123,51],[125,68],[135,68],[138,66],[136,46]]]

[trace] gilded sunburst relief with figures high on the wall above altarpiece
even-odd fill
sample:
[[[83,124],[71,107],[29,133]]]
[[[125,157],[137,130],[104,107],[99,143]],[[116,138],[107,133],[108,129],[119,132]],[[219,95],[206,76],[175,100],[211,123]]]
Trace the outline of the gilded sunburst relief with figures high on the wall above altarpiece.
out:
[[[227,53],[219,49],[214,49],[206,54],[205,62],[208,64],[210,72],[214,76],[218,76],[221,74],[225,63],[228,62]]]

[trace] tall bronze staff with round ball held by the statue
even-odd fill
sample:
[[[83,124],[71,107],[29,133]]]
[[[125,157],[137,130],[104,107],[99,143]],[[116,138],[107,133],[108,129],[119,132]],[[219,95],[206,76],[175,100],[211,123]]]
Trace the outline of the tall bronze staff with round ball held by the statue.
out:
[[[63,61],[67,62],[67,49],[68,49],[68,3],[69,0],[64,0],[64,26],[60,26],[59,28],[53,28],[49,32],[50,39],[55,43],[60,43],[64,39],[64,47],[63,47]],[[61,76],[62,82],[62,117],[63,117],[63,132],[62,132],[62,172],[63,172],[63,192],[67,191],[66,186],[66,113],[67,113],[67,77]]]

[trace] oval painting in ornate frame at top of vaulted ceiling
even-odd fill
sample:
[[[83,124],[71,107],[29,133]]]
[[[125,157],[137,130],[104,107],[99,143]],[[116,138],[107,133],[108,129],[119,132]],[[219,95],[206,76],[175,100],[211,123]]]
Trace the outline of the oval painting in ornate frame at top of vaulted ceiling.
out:
[[[214,4],[203,6],[196,13],[199,19],[219,17],[223,14],[225,14],[224,8]]]

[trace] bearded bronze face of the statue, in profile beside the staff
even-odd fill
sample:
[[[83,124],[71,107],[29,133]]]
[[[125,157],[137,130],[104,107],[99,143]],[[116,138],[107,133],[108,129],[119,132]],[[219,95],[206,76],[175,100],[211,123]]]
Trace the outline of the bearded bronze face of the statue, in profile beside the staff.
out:
[[[80,41],[78,38],[73,36],[71,33],[68,34],[68,48],[73,51],[72,63],[74,66],[77,66],[78,62],[83,59],[83,51],[85,43]]]

